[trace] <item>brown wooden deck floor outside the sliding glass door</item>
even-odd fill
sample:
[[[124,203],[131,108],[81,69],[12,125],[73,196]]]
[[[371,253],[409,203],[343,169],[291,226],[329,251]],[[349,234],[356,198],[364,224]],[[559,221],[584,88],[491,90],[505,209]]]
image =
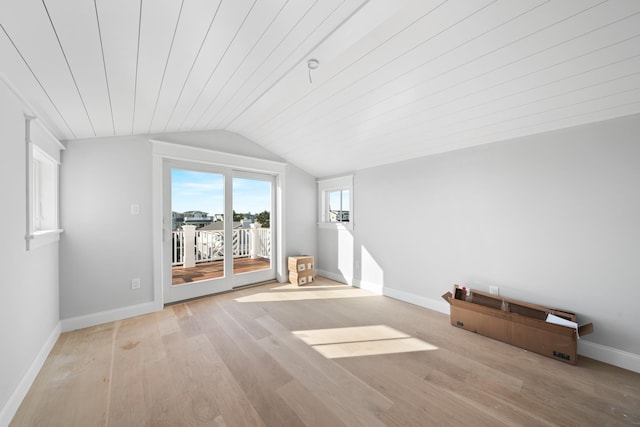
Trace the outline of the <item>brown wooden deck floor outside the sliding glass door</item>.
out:
[[[206,262],[197,264],[192,268],[176,266],[171,269],[171,284],[182,285],[184,283],[200,280],[217,279],[224,276],[224,261]],[[249,273],[251,271],[266,270],[271,266],[271,261],[266,258],[235,258],[233,260],[233,274]]]

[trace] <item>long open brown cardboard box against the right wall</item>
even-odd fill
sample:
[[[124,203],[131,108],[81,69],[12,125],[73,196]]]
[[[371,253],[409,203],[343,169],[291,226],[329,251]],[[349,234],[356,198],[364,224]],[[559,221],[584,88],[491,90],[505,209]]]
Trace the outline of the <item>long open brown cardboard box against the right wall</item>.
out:
[[[574,365],[578,336],[593,332],[591,323],[578,327],[574,313],[550,309],[497,295],[454,288],[443,298],[451,304],[451,324]],[[464,299],[464,300],[463,300]],[[554,315],[575,327],[550,323]]]

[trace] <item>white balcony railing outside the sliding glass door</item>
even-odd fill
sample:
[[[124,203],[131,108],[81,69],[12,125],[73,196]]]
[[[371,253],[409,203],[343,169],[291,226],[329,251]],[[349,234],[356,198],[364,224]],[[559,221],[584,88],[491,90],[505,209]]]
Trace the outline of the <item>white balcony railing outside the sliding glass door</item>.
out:
[[[173,231],[171,237],[171,265],[182,265],[185,254],[185,232],[183,230]],[[234,258],[249,256],[271,258],[271,229],[237,228],[233,230],[232,237]],[[255,246],[253,246],[254,243]],[[196,230],[193,250],[196,263],[224,259],[224,232],[221,230]]]

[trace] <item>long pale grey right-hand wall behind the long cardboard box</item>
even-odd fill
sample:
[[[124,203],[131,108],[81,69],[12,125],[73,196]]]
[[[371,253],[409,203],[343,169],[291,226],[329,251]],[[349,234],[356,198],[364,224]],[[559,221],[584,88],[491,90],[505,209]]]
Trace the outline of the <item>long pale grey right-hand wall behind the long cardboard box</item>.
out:
[[[355,229],[319,231],[319,268],[445,312],[454,283],[499,286],[575,311],[583,354],[637,370],[638,135],[631,116],[358,171]]]

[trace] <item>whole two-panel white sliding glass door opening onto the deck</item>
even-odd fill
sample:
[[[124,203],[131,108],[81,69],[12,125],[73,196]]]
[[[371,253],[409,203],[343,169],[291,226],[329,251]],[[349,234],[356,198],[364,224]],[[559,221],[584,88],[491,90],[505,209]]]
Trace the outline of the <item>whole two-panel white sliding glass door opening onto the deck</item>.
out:
[[[165,159],[163,188],[165,303],[275,278],[272,176]]]

